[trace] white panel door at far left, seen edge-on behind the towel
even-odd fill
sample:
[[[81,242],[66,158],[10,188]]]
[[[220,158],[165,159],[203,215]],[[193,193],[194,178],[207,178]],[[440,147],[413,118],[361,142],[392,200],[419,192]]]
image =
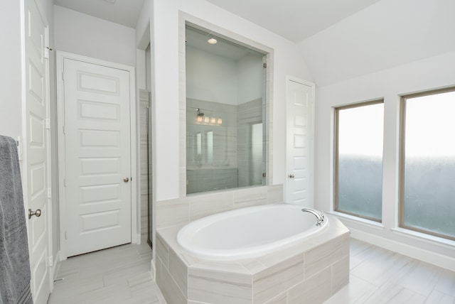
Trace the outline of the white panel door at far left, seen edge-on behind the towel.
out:
[[[31,292],[36,304],[50,293],[50,148],[48,130],[48,23],[35,1],[25,1],[25,104],[23,108],[23,194],[26,210],[41,210],[28,220]]]

